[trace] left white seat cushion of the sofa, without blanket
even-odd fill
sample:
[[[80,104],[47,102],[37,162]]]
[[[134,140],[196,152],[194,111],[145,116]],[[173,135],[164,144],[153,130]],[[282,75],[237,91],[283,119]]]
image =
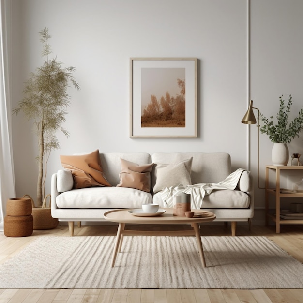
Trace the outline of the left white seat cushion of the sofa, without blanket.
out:
[[[56,197],[59,208],[141,208],[152,203],[152,194],[128,187],[73,189]]]

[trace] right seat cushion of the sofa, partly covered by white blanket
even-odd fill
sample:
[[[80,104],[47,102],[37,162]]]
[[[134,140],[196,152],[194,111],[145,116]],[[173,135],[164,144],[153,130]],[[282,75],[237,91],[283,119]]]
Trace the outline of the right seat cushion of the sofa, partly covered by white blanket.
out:
[[[173,207],[173,205],[165,205],[162,200],[161,193],[153,196],[153,203],[160,206]],[[210,195],[206,195],[203,199],[203,208],[248,208],[250,205],[250,197],[248,194],[239,190],[213,190]]]

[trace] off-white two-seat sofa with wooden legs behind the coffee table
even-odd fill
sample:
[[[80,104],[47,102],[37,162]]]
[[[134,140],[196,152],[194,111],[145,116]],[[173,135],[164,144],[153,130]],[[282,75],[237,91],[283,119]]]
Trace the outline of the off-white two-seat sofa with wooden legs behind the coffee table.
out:
[[[75,222],[105,221],[104,213],[112,209],[141,208],[143,203],[152,202],[165,206],[159,191],[161,184],[157,181],[163,180],[164,185],[167,185],[166,182],[173,182],[175,177],[179,181],[178,174],[181,169],[175,167],[177,170],[172,172],[172,178],[168,178],[167,181],[165,179],[167,176],[161,175],[160,167],[165,164],[169,168],[169,164],[181,163],[191,158],[192,184],[218,183],[232,172],[230,155],[222,152],[154,153],[152,156],[142,152],[100,153],[103,173],[112,187],[74,189],[71,171],[62,169],[53,174],[51,179],[51,214],[59,221],[68,222],[70,235],[73,236]],[[120,183],[121,159],[138,165],[154,163],[151,172],[151,192],[116,186]],[[153,191],[155,186],[158,187],[157,192]],[[236,234],[237,222],[248,221],[250,227],[251,218],[254,216],[254,195],[250,173],[242,172],[235,190],[213,190],[210,195],[204,197],[201,208],[214,212],[215,221],[231,222],[233,236]]]

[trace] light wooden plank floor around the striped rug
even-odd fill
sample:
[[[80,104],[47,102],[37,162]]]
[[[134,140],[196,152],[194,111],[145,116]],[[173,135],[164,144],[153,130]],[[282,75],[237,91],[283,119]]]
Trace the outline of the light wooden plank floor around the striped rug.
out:
[[[136,228],[133,226],[132,228]],[[159,227],[154,227],[159,228]],[[75,236],[115,235],[116,225],[75,227]],[[32,236],[5,237],[0,233],[0,264],[22,250],[37,237],[68,236],[67,226],[52,230],[34,230]],[[229,236],[230,226],[201,226],[202,236]],[[276,234],[273,226],[240,225],[237,236],[266,236],[303,263],[303,226],[282,226]],[[266,273],[264,273],[266,274]],[[303,289],[0,289],[0,303],[303,303]]]

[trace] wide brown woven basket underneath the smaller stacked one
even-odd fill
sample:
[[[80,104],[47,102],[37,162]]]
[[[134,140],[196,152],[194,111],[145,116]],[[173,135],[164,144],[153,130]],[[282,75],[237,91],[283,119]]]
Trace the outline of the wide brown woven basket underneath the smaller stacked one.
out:
[[[5,216],[4,235],[6,237],[27,237],[32,234],[33,217],[29,216]]]

